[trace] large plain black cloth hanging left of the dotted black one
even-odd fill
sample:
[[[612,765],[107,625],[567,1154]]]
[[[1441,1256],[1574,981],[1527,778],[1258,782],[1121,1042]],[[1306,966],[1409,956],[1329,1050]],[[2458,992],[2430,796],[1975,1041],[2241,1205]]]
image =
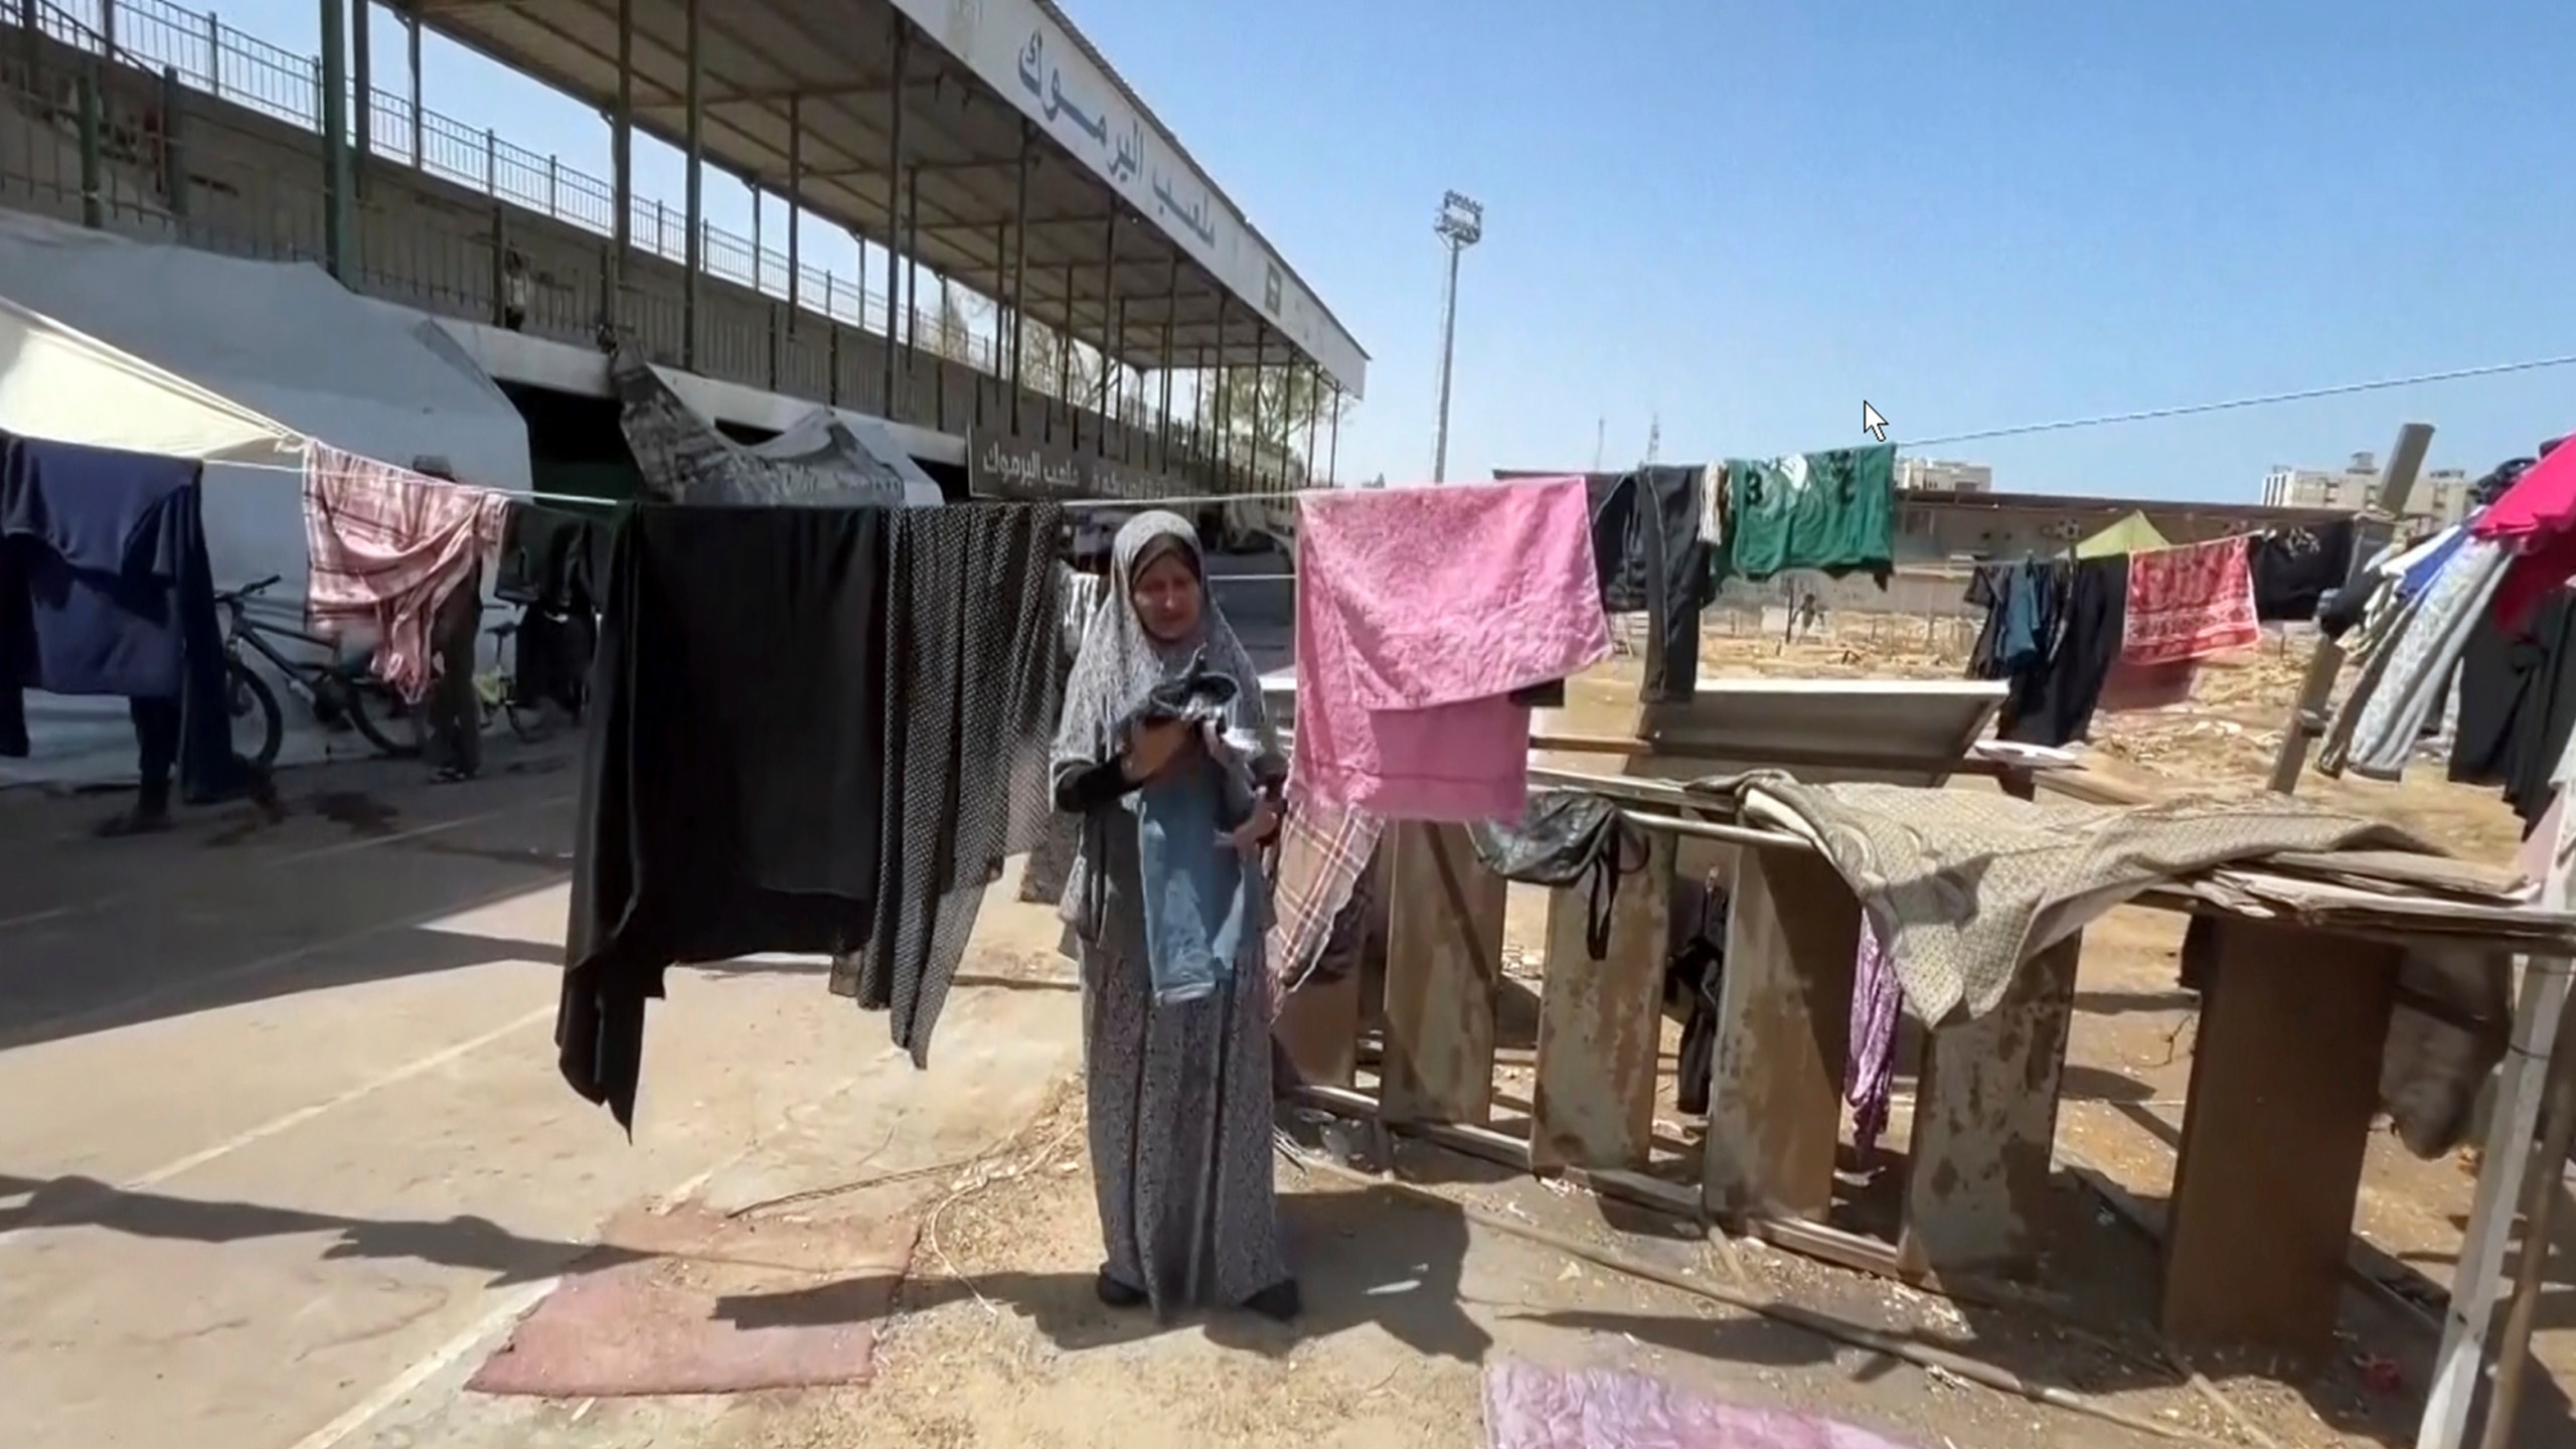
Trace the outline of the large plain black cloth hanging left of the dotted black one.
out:
[[[868,936],[891,526],[641,505],[616,529],[554,1042],[629,1132],[665,967]]]

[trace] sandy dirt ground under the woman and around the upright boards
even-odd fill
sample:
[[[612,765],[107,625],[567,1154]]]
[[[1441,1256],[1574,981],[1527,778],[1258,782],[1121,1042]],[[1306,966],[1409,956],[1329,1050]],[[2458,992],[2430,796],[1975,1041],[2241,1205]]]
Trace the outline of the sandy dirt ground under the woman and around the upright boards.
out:
[[[1922,637],[1906,627],[1924,629]],[[1875,634],[1875,637],[1873,637]],[[1924,650],[1924,642],[1932,650]],[[1713,627],[1710,676],[1950,678],[1965,634],[1919,621],[1844,621],[1832,639],[1780,645]],[[2303,655],[2267,645],[2205,670],[2187,709],[2112,717],[2097,768],[2143,786],[2257,786],[2277,745]],[[2509,859],[2519,830],[2491,792],[2424,768],[2401,786],[2306,786],[2383,812],[2476,859]],[[1543,900],[1515,890],[1507,972],[1535,990]],[[2161,1201],[2190,1070],[2192,1006],[2174,985],[2182,920],[2123,910],[2087,941],[2069,1093],[2058,1142],[2143,1201]],[[1043,954],[1015,969],[1066,982]],[[1533,1000],[1517,1003],[1528,1016]],[[1507,1008],[1504,1047],[1515,1044]],[[1522,1021],[1525,1029],[1525,1021]],[[1520,1042],[1528,1044],[1528,1042]],[[1667,1049],[1672,1042],[1667,1039]],[[1528,1067],[1499,1067],[1499,1104],[1528,1101]],[[1904,1088],[1904,1083],[1901,1083]],[[1891,1142],[1904,1140],[1904,1091]],[[1695,1140],[1664,1104],[1659,1129]],[[2421,1310],[2354,1287],[2344,1354],[2313,1379],[2208,1364],[2218,1397],[2182,1382],[2141,1323],[2154,1248],[2066,1178],[2079,1253],[2043,1289],[2081,1307],[1999,1312],[1875,1281],[1759,1243],[1726,1250],[1651,1214],[1561,1183],[1512,1178],[1435,1147],[1399,1145],[1396,1171],[1489,1212],[1615,1245],[1664,1271],[1734,1284],[1870,1328],[1953,1346],[2172,1434],[2223,1444],[2409,1444],[2434,1330]],[[2393,1294],[2437,1302],[2458,1248],[2470,1176],[2458,1160],[2411,1160],[2393,1137],[2372,1147],[2360,1212],[2362,1258]],[[1146,1449],[1162,1444],[1476,1446],[1479,1364],[1520,1356],[1564,1366],[1631,1366],[1721,1397],[1795,1405],[1922,1446],[2151,1444],[2154,1436],[2043,1408],[1950,1374],[1857,1351],[1695,1294],[1607,1274],[1553,1248],[1471,1225],[1455,1212],[1280,1165],[1309,1318],[1288,1330],[1236,1318],[1154,1330],[1090,1299],[1097,1225],[1079,1147],[1079,1101],[1054,1098],[1010,1152],[914,1201],[935,1235],[914,1261],[886,1330],[884,1374],[866,1390],[752,1395],[690,1421],[688,1439],[724,1449],[873,1444],[1007,1444]],[[2576,1250],[2561,1245],[2543,1310],[2540,1356],[2517,1444],[2576,1444]],[[647,1405],[587,1405],[605,1441],[662,1426]]]

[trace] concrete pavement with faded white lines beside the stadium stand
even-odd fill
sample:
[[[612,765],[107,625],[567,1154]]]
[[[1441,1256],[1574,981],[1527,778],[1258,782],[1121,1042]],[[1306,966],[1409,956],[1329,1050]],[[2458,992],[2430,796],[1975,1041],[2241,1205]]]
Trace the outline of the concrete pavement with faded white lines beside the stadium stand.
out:
[[[1072,1073],[1064,993],[963,985],[917,1073],[819,962],[685,969],[629,1145],[554,1073],[572,794],[332,766],[113,843],[0,797],[0,1439],[366,1444],[621,1207],[984,1147]]]

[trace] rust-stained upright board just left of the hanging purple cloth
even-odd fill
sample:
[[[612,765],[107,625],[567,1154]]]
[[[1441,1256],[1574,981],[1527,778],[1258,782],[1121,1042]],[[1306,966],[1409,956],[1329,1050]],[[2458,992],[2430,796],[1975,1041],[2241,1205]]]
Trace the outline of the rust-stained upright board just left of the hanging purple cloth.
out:
[[[1803,851],[1736,851],[1708,1093],[1708,1212],[1821,1217],[1834,1204],[1860,902]]]

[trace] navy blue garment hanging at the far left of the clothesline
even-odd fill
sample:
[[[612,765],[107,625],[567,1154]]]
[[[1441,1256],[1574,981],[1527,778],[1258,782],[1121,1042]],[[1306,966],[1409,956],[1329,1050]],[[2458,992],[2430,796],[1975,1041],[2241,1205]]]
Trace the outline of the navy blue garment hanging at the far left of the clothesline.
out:
[[[191,804],[247,786],[193,459],[0,433],[0,755],[31,750],[26,688],[175,714]]]

